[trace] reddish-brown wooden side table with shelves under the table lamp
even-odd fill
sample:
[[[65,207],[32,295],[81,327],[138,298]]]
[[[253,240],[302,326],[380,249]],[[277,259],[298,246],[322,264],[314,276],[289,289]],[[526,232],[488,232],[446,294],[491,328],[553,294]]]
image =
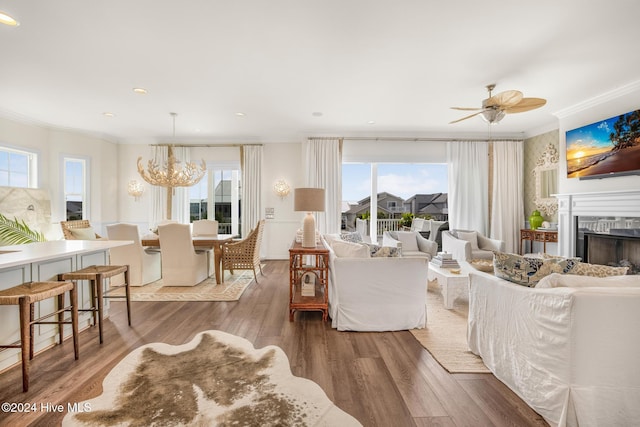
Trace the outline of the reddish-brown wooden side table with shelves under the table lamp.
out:
[[[313,296],[302,295],[302,280],[306,275],[315,278]],[[293,242],[289,249],[289,321],[299,311],[321,311],[322,320],[329,317],[329,249],[322,243],[315,248],[303,248]]]

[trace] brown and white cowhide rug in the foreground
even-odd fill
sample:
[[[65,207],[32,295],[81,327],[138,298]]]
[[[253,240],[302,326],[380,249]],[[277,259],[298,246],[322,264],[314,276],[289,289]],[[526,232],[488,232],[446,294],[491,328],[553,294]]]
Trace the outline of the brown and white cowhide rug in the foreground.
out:
[[[118,363],[100,396],[63,426],[360,426],[281,348],[205,331],[184,345],[144,345]]]

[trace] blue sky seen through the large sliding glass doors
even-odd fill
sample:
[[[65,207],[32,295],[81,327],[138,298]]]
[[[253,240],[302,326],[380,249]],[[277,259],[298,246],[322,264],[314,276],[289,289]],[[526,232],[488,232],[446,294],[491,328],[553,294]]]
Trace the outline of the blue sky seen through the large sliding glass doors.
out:
[[[447,193],[447,165],[436,163],[379,163],[378,192],[408,199],[415,194]],[[371,167],[368,163],[342,165],[342,200],[358,201],[369,196]]]

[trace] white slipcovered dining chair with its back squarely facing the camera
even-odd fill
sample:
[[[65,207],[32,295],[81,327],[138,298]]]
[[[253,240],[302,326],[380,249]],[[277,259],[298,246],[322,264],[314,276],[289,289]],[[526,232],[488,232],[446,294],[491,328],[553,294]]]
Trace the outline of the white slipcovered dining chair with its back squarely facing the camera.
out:
[[[158,226],[164,286],[195,286],[209,276],[206,252],[196,252],[189,224]]]

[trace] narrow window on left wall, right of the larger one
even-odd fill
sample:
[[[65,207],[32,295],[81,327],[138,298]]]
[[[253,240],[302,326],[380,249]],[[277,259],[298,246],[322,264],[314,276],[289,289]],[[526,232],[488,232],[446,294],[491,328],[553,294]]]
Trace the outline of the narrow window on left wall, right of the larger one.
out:
[[[64,204],[67,221],[87,219],[87,160],[65,157],[64,163]]]

